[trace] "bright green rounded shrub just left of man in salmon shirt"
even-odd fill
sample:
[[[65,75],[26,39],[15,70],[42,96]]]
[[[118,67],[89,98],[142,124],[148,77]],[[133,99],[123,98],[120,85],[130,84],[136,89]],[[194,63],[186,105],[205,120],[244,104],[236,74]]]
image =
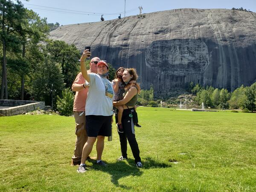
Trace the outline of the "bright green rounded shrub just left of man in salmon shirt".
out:
[[[70,88],[62,91],[62,99],[57,96],[57,109],[61,115],[70,116],[73,113],[74,95]]]

